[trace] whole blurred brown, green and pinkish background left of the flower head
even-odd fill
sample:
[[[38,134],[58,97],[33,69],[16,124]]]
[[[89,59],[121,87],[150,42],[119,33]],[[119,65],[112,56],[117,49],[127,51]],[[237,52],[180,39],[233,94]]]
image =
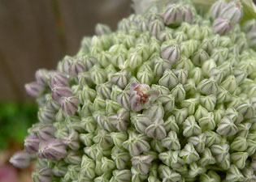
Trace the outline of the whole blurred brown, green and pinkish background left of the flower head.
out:
[[[23,148],[37,106],[24,91],[39,68],[55,69],[75,54],[97,23],[112,30],[132,13],[131,0],[0,0],[0,182],[30,182],[33,165],[8,162]]]

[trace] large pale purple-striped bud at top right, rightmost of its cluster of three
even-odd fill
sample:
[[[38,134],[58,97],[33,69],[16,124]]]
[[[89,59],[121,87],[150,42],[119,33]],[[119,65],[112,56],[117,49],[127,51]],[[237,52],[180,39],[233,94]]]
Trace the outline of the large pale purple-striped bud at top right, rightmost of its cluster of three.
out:
[[[227,6],[224,6],[219,16],[223,19],[229,19],[232,24],[236,24],[240,21],[242,15],[243,11],[241,2],[235,0],[229,2]]]

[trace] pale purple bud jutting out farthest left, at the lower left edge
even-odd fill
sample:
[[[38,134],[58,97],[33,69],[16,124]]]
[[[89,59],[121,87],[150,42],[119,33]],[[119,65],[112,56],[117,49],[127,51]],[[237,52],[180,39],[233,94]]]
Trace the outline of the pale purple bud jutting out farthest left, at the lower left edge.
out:
[[[14,155],[12,155],[10,163],[12,163],[15,167],[19,168],[28,167],[30,164],[30,156],[24,150],[18,151]]]

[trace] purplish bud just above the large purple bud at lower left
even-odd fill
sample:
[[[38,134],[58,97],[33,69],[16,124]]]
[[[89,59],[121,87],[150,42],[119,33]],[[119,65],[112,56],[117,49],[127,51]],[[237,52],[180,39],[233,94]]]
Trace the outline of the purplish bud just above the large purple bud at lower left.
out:
[[[51,138],[54,138],[55,130],[56,129],[54,125],[41,125],[37,131],[38,138],[44,141],[48,141]]]

